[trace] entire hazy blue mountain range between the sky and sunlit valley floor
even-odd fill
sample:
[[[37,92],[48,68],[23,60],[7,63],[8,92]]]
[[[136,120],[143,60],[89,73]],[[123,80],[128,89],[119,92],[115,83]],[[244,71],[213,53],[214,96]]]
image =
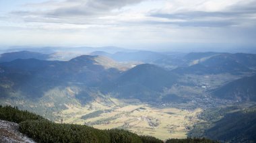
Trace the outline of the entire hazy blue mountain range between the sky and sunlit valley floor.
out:
[[[255,61],[255,54],[224,52],[9,52],[0,56],[0,98],[1,104],[11,103],[30,111],[34,109],[50,120],[59,120],[57,114],[74,105],[84,105],[96,110],[95,113],[115,111],[113,107],[98,111],[92,106],[97,101],[122,107],[115,99],[136,100],[138,104],[147,103],[158,109],[168,106],[185,111],[198,107],[214,109],[211,107],[234,103],[245,106],[256,101]],[[139,107],[134,111],[144,110],[147,111]],[[170,115],[175,114],[170,112]],[[192,122],[197,116],[187,118]],[[226,119],[230,121],[230,118]],[[113,120],[113,117],[106,120]],[[150,127],[156,128],[158,120],[147,118],[146,121]],[[220,126],[221,118],[214,123]],[[249,124],[255,126],[255,122]],[[184,132],[192,128],[187,124],[183,126],[186,126]],[[177,130],[176,126],[170,128]],[[207,134],[216,132],[216,128],[201,132],[214,140],[224,138]],[[234,138],[232,142],[237,140]]]

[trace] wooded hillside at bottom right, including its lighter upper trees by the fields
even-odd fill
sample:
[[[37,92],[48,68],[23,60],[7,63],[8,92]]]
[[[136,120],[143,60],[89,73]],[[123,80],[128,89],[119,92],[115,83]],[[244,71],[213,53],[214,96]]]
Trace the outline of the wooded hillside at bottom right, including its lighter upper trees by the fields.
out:
[[[201,113],[199,118],[205,122],[196,124],[189,136],[204,136],[222,142],[256,140],[256,106],[248,109],[236,106],[209,109]]]

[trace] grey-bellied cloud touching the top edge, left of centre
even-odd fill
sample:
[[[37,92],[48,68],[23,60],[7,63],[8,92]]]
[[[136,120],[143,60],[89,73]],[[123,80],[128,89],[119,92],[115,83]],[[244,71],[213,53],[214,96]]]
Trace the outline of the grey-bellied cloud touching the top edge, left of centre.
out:
[[[44,11],[45,17],[71,17],[71,16],[95,16],[108,15],[114,9],[121,9],[127,5],[140,3],[143,0],[66,0],[62,2],[47,1],[36,4],[39,8],[51,7],[49,11]],[[53,3],[53,5],[51,5]],[[34,12],[34,11],[33,11]]]

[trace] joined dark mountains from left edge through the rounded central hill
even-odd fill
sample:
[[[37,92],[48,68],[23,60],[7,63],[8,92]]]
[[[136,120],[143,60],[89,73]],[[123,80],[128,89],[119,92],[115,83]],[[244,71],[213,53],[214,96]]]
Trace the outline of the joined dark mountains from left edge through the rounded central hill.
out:
[[[21,92],[36,99],[54,87],[71,85],[80,87],[82,93],[88,88],[98,88],[117,93],[121,98],[152,100],[159,98],[158,92],[164,87],[170,88],[177,80],[176,75],[153,64],[140,64],[127,71],[123,68],[125,66],[110,58],[88,55],[69,61],[30,58],[2,62],[0,85],[4,86],[0,86],[1,97]],[[84,93],[84,96],[88,94]],[[80,94],[77,97],[84,99]]]

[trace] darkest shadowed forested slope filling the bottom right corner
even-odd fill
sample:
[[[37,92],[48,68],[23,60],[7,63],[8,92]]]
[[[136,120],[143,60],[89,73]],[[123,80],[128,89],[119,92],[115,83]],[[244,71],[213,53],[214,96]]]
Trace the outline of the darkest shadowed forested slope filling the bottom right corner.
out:
[[[225,115],[205,136],[224,142],[255,142],[256,111],[238,111]],[[226,131],[226,132],[225,132]]]

